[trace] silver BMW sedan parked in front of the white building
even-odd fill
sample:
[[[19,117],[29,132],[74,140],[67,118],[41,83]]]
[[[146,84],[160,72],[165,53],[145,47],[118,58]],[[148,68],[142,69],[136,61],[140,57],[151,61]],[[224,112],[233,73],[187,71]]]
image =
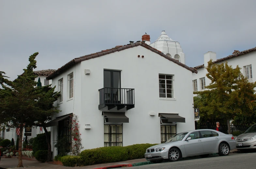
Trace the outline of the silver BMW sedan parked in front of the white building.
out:
[[[152,162],[162,162],[164,159],[174,162],[181,157],[207,157],[211,153],[226,156],[235,147],[236,142],[231,134],[211,129],[191,130],[178,133],[165,143],[149,147],[145,158]]]

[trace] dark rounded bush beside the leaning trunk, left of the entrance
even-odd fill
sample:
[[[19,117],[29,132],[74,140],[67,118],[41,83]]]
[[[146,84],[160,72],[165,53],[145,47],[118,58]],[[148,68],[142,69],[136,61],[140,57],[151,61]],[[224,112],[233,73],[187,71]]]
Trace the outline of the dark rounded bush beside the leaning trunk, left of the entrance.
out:
[[[49,131],[48,133],[51,136],[51,132]],[[39,150],[46,150],[47,151],[48,150],[48,145],[47,145],[47,142],[46,142],[45,133],[37,134],[37,137],[34,138],[32,146],[33,146],[34,156],[35,156],[35,153]],[[47,154],[46,154],[46,157],[47,157]]]

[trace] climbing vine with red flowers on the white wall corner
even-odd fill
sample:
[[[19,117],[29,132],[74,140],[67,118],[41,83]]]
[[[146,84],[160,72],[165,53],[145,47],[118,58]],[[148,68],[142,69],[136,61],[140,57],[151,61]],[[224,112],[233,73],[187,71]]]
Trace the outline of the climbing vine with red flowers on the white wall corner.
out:
[[[78,124],[78,116],[70,115],[72,122],[69,123],[69,128],[71,128],[71,137],[72,137],[72,152],[70,155],[79,155],[82,147],[81,133],[79,132],[80,125]]]

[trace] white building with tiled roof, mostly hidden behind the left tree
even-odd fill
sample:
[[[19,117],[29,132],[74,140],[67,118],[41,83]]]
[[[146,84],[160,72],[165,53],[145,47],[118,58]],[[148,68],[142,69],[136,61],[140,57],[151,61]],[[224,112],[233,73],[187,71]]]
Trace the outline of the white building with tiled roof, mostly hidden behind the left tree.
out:
[[[38,79],[40,78],[42,86],[51,84],[52,80],[46,80],[46,77],[49,76],[50,74],[52,74],[54,71],[55,70],[53,70],[53,69],[34,71],[35,75],[38,76],[35,79],[35,81],[38,81]],[[48,129],[48,131],[51,131],[50,127],[47,129]],[[23,130],[23,138],[24,138],[24,132],[25,131]],[[36,137],[37,134],[40,134],[40,133],[44,133],[44,130],[42,129],[42,131],[41,131],[39,127],[32,128],[31,136],[27,136],[27,137],[28,137],[28,139],[30,139],[32,137]],[[16,128],[6,128],[5,130],[0,131],[0,137],[9,139],[9,140],[11,140],[13,138],[15,142],[16,142],[17,136],[18,135],[16,133]]]

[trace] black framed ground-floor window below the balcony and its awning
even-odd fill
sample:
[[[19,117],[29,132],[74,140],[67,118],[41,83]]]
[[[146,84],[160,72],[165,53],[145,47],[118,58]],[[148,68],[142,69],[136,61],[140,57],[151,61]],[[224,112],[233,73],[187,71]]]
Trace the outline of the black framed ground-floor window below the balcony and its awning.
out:
[[[123,146],[123,125],[104,125],[104,147]]]

